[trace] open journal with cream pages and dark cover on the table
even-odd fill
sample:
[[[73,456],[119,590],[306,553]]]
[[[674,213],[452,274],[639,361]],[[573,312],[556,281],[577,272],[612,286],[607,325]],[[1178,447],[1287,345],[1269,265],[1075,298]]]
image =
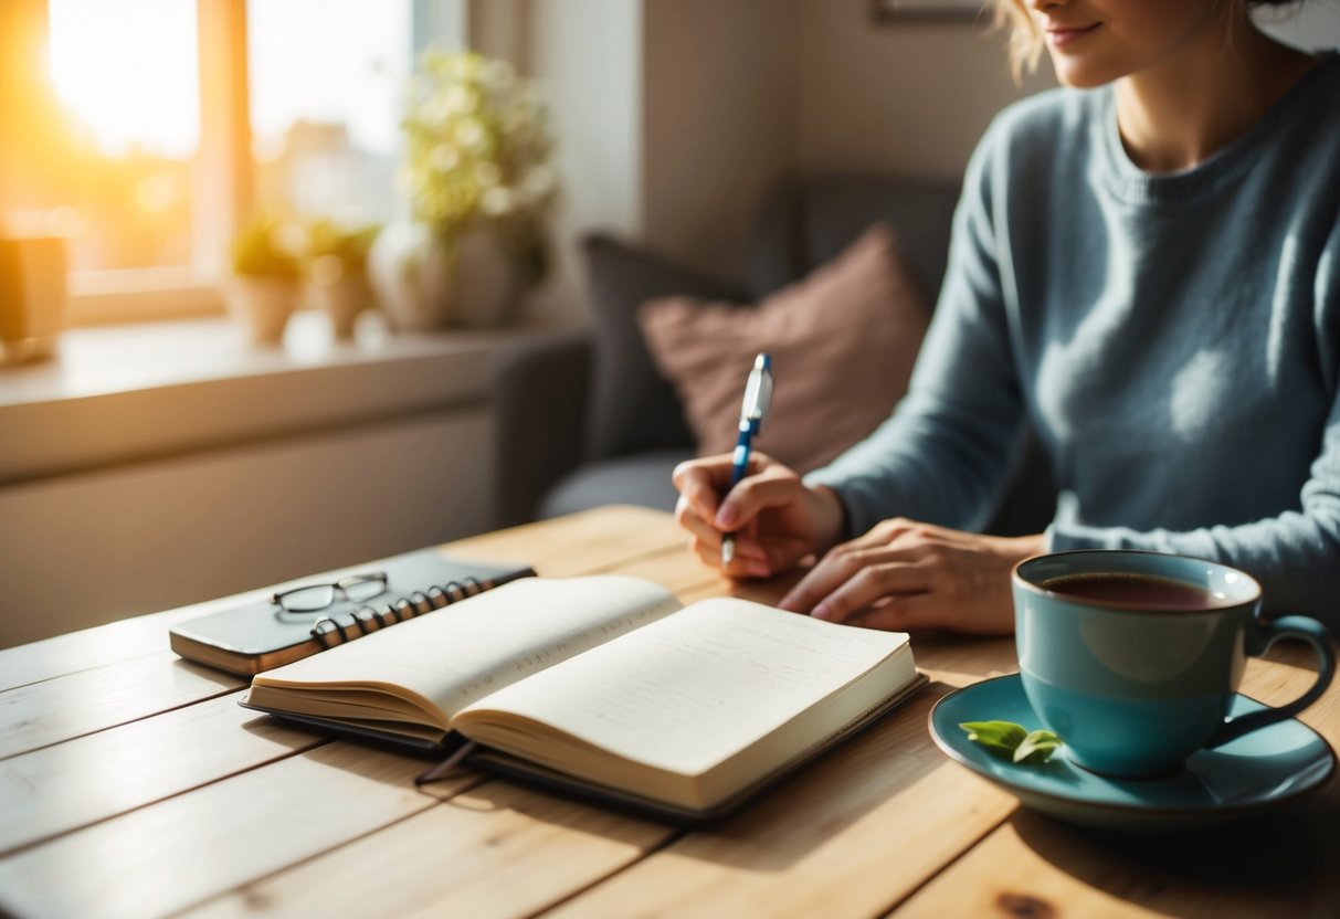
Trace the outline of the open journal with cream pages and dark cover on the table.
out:
[[[257,675],[248,707],[713,817],[925,678],[907,635],[616,575],[528,577]]]

